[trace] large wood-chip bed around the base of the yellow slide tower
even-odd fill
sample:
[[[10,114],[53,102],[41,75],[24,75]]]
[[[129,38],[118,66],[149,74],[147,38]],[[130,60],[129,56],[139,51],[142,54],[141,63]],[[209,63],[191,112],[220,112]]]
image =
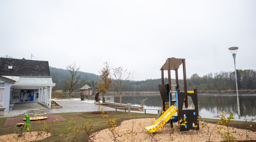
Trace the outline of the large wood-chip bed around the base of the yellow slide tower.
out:
[[[133,132],[135,132],[133,138],[135,138],[135,141],[137,142],[149,142],[149,141],[157,141],[157,142],[166,142],[166,141],[171,141],[170,137],[170,124],[165,124],[162,129],[154,133],[153,136],[149,134],[144,127],[153,124],[156,119],[154,118],[141,118],[141,119],[133,119],[133,120],[126,120],[121,123],[120,126],[116,127],[116,131],[118,131],[118,135],[123,135],[118,138],[118,140],[122,141],[126,139],[125,141],[131,141],[131,134],[124,135],[125,133],[129,132],[132,130],[132,121],[133,121]],[[173,123],[174,128],[177,127],[177,123]],[[216,124],[208,123],[208,126],[210,127],[210,133],[211,138],[210,141],[221,141],[223,140],[219,134],[217,134],[217,128]],[[223,126],[224,129],[227,129],[226,126]],[[220,130],[222,132],[226,132],[227,130]],[[245,140],[245,135],[246,135],[246,130],[243,129],[237,129],[237,128],[232,128],[229,127],[229,131],[236,131],[236,134],[234,136],[237,138],[237,140]],[[209,141],[209,136],[210,133],[207,132],[207,127],[202,128],[200,125],[200,130],[199,134],[196,133],[196,131],[186,131],[182,132],[180,135],[177,130],[172,132],[172,142],[185,142],[185,141],[191,141],[191,133],[194,134],[193,141],[194,142],[205,142]],[[256,139],[256,132],[252,131],[247,131],[247,134],[249,135],[249,139]],[[127,138],[128,136],[128,138]],[[193,135],[192,135],[193,136]],[[108,129],[99,131],[96,136],[95,136],[95,142],[102,142],[102,141],[113,141],[113,135]]]

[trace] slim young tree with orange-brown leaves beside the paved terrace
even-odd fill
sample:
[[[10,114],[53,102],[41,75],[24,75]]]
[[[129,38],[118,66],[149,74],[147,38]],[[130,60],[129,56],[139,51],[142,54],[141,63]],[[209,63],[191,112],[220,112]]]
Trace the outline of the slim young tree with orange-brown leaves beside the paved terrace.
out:
[[[97,88],[99,93],[107,93],[112,83],[108,62],[104,63],[104,65],[105,67],[103,67],[101,71],[99,71],[101,80],[100,82],[97,81],[95,84],[95,87]],[[99,102],[99,112],[100,112],[100,102]]]

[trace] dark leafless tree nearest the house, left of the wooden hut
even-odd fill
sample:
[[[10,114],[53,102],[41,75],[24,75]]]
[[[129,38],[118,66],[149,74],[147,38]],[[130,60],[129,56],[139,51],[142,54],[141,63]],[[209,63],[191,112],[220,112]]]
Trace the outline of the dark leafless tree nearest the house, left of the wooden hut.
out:
[[[79,78],[81,73],[79,74],[78,71],[79,67],[76,67],[76,62],[73,61],[73,64],[67,66],[67,69],[70,73],[69,77],[66,77],[67,84],[65,83],[65,87],[68,88],[68,97],[69,95],[77,89]]]

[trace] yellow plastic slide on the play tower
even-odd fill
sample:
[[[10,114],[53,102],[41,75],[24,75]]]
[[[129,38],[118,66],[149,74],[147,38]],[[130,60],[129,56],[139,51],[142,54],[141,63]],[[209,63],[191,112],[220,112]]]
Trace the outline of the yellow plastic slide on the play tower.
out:
[[[160,116],[155,123],[153,123],[152,125],[146,126],[144,127],[144,129],[146,129],[149,133],[158,131],[159,129],[161,129],[164,124],[172,119],[172,116],[174,116],[174,114],[177,113],[177,108],[173,108],[173,105],[168,108],[164,114],[162,116]]]

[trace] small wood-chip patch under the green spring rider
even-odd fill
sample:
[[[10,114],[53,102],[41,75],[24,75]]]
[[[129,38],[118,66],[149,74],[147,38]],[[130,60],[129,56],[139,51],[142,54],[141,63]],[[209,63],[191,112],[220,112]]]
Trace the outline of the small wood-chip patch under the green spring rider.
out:
[[[29,141],[35,141],[35,139],[41,140],[41,139],[50,137],[52,135],[51,133],[47,134],[46,132],[39,132],[39,135],[38,135],[38,132],[25,132],[23,134],[24,135],[22,137],[18,137],[17,134],[2,135],[0,136],[0,141],[1,142],[16,142],[16,141],[29,142]]]

